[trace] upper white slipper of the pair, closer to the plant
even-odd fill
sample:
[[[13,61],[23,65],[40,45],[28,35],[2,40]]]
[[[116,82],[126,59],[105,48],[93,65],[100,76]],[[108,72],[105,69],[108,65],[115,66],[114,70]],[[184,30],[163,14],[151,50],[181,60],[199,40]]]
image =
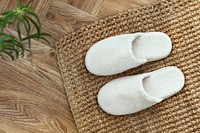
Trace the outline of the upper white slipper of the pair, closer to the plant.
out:
[[[162,32],[118,35],[94,44],[86,54],[85,65],[95,75],[112,75],[165,58],[171,48],[171,39]]]

